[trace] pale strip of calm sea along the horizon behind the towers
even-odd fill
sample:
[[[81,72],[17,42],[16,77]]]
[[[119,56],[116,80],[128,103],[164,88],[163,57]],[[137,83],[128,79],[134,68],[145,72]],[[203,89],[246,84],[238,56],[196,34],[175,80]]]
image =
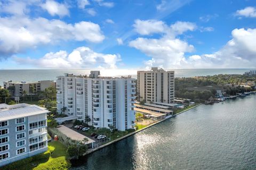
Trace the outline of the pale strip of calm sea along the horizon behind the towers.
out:
[[[250,69],[191,69],[175,70],[175,77],[195,77],[198,75],[214,74],[243,74]],[[56,80],[56,77],[64,73],[73,73],[76,75],[89,74],[90,70],[0,70],[0,86],[3,81],[39,81]],[[101,75],[120,77],[121,75],[132,75],[137,78],[137,70],[101,70]]]

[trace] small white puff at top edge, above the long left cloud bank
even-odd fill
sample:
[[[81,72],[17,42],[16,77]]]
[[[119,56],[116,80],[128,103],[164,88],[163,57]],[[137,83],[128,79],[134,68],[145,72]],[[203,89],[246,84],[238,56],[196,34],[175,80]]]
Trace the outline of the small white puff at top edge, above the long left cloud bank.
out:
[[[59,15],[60,17],[62,17],[69,15],[68,7],[65,4],[61,4],[52,0],[47,0],[44,4],[41,4],[41,6],[52,16]]]

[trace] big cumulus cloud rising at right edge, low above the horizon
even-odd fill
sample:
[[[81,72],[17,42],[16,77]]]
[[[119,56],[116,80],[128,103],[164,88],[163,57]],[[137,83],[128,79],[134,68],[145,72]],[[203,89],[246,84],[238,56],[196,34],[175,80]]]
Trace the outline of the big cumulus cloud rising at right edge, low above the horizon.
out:
[[[255,67],[256,44],[253,42],[256,38],[256,29],[234,29],[231,35],[232,39],[218,52],[201,55],[201,59],[196,61],[185,60],[183,65],[200,68]],[[193,56],[190,57],[193,58]]]

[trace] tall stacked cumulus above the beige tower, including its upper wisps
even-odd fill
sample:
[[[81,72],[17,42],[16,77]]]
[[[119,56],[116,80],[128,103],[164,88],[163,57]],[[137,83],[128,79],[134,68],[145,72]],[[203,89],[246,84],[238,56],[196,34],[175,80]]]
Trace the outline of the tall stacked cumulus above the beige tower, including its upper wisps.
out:
[[[152,57],[151,60],[145,61],[146,66],[180,66],[182,60],[185,59],[184,54],[193,52],[194,46],[177,38],[177,36],[186,31],[195,30],[197,28],[196,24],[178,21],[168,26],[162,21],[149,20],[140,22],[143,24],[138,24],[138,21],[134,24],[135,29],[138,30],[137,32],[140,34],[149,35],[153,32],[159,32],[162,34],[162,37],[158,39],[139,37],[130,41],[129,46],[134,47],[142,53]],[[145,26],[148,23],[151,23],[149,25],[157,25],[157,28],[143,27],[140,29],[140,27],[138,27],[138,25]]]

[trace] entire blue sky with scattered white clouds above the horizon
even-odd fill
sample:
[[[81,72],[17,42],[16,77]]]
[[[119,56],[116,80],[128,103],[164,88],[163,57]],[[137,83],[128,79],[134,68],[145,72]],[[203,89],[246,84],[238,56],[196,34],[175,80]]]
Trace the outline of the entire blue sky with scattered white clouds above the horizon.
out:
[[[0,0],[0,69],[255,68],[255,0]]]

